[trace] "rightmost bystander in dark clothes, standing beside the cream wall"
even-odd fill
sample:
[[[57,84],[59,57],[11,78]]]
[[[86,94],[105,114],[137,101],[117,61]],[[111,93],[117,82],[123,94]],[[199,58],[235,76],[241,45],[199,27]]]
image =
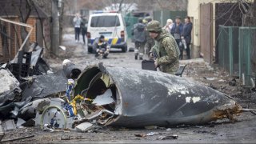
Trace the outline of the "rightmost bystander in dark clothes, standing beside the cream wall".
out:
[[[182,31],[182,39],[186,42],[186,57],[190,59],[190,42],[191,42],[191,31],[193,28],[192,22],[190,22],[190,17],[185,18],[185,24]]]

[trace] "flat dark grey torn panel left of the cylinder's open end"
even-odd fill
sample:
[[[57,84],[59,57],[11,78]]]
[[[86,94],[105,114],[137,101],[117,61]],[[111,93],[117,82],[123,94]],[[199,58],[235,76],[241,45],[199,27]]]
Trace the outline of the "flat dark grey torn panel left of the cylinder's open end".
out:
[[[49,97],[52,94],[62,93],[66,91],[66,82],[67,79],[62,72],[38,75],[38,77],[34,78],[31,86],[27,86],[22,92],[22,101],[30,96],[33,100],[36,100]]]

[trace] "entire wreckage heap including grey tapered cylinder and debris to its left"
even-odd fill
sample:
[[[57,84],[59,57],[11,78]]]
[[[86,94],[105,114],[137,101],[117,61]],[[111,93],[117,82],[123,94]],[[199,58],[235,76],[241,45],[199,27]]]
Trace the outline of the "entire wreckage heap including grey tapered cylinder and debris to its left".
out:
[[[158,71],[102,63],[81,71],[65,60],[63,70],[53,73],[42,50],[34,43],[0,68],[0,118],[12,119],[0,122],[5,130],[15,129],[14,121],[49,131],[201,125],[242,112],[217,90]]]

